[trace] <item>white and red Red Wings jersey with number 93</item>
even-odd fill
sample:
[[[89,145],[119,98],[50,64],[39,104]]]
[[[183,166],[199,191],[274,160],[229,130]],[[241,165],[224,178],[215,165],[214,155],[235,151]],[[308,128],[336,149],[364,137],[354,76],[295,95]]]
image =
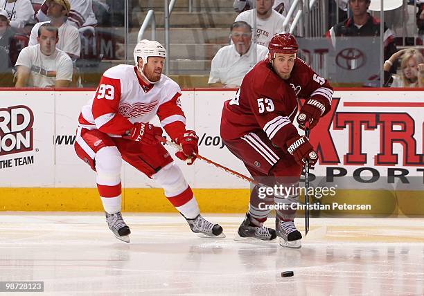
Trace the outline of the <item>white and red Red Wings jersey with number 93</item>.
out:
[[[80,127],[122,136],[134,122],[149,122],[159,116],[161,126],[175,139],[185,131],[186,118],[179,104],[181,89],[166,75],[146,85],[136,67],[118,65],[101,78],[96,95],[82,107]]]

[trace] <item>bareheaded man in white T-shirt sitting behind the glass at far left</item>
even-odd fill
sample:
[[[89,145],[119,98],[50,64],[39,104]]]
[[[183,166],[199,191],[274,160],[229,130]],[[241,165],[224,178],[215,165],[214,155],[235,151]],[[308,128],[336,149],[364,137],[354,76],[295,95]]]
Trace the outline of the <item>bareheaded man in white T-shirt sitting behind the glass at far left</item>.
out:
[[[39,44],[21,50],[16,62],[17,87],[67,87],[72,80],[72,60],[58,44],[58,28],[42,24]]]

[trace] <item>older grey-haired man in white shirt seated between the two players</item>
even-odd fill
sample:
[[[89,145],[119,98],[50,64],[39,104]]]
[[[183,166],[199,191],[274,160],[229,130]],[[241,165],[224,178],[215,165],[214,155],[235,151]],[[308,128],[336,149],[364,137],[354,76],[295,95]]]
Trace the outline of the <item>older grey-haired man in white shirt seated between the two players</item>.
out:
[[[212,59],[209,86],[239,87],[243,77],[255,65],[251,26],[245,21],[231,24],[231,41],[233,44],[220,48]],[[267,53],[268,48],[257,44],[256,62],[264,59]]]

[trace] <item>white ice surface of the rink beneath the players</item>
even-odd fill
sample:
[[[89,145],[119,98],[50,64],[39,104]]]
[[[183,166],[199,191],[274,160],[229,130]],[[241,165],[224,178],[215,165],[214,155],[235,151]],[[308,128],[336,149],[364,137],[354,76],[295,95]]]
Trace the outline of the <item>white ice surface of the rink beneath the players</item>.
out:
[[[233,241],[241,214],[204,216],[227,238],[198,238],[179,214],[124,213],[127,244],[101,213],[2,212],[0,281],[44,281],[35,295],[424,295],[424,219],[311,219],[290,250]]]

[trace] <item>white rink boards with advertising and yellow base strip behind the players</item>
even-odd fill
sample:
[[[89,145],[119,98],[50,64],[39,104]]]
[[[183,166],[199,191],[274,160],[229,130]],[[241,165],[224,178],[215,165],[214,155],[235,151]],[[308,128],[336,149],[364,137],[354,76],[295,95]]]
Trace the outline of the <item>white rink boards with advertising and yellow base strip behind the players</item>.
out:
[[[222,102],[235,93],[187,89],[182,105],[188,128],[200,138],[200,154],[247,174],[219,136]],[[73,151],[80,109],[94,90],[9,89],[0,95],[0,210],[101,210],[94,172]],[[414,208],[424,187],[423,97],[423,91],[403,89],[336,90],[332,111],[311,134],[320,158],[314,185],[337,185],[354,199],[389,192],[396,207],[406,192]],[[245,212],[245,181],[202,161],[179,163],[202,210]],[[161,189],[129,165],[122,184],[124,210],[173,210]]]

